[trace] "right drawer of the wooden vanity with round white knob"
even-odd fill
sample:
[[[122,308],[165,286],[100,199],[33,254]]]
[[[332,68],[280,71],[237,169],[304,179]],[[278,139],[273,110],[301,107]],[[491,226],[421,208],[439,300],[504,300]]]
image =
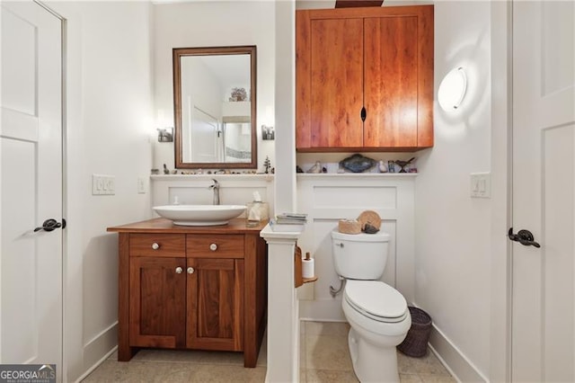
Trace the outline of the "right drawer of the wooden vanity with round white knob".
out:
[[[194,235],[187,236],[189,257],[243,258],[243,235]]]

